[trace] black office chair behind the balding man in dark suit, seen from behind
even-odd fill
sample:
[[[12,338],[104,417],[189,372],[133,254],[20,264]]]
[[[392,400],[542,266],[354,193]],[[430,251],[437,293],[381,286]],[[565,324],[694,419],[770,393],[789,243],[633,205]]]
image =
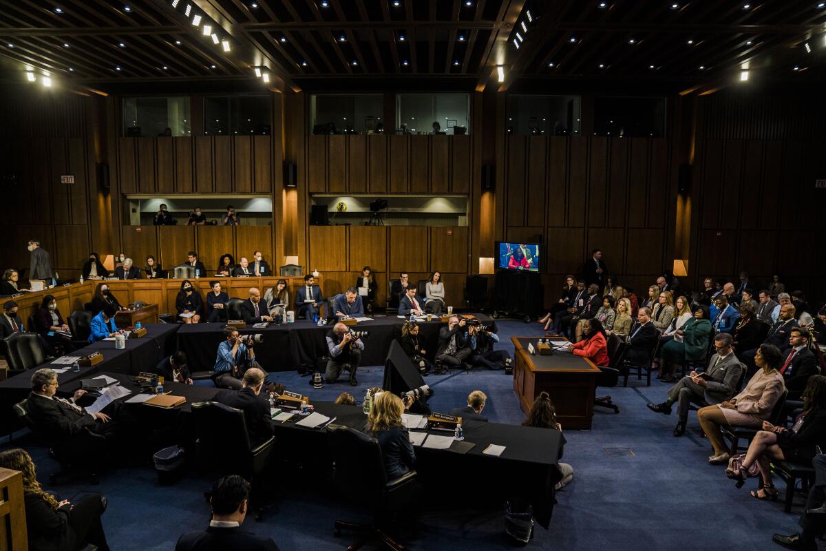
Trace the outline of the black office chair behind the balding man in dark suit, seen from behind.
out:
[[[249,480],[249,498],[255,520],[261,520],[263,499],[260,497],[259,474],[267,468],[275,439],[270,436],[261,444],[249,441],[244,411],[216,401],[192,404],[192,421],[197,437],[197,457],[202,468],[225,474],[240,474]]]

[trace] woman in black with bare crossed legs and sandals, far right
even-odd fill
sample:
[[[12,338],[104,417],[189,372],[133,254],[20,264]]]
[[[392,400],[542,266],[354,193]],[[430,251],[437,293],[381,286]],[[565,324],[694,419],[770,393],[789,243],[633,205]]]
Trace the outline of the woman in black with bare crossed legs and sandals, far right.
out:
[[[786,460],[809,465],[817,455],[816,446],[826,449],[826,377],[815,375],[809,379],[803,392],[803,402],[803,415],[791,430],[764,420],[762,430],[757,431],[748,445],[740,468],[737,471],[726,469],[729,478],[737,480],[740,487],[740,482],[746,482],[748,469],[757,463],[762,484],[757,491],[752,490],[752,497],[777,499],[777,490],[771,482],[771,461]]]

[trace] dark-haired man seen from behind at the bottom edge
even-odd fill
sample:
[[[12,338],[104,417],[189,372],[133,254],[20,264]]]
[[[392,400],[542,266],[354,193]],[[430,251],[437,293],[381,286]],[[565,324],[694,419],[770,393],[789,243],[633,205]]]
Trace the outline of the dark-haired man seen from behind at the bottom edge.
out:
[[[272,538],[241,530],[249,510],[249,482],[230,474],[212,485],[212,520],[207,530],[187,532],[175,551],[278,551]]]

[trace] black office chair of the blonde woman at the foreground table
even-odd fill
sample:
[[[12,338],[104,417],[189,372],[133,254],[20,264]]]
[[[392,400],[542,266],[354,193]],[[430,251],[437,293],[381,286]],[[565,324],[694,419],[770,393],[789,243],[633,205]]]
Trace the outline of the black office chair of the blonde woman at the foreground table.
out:
[[[360,525],[346,520],[336,520],[333,533],[354,530],[360,535],[347,549],[355,551],[373,539],[378,539],[387,549],[405,549],[391,531],[395,532],[395,516],[406,508],[419,491],[415,471],[387,480],[382,449],[378,440],[358,430],[342,425],[328,425],[330,454],[335,462],[335,483],[340,495],[347,496],[348,506],[358,503],[373,512],[370,525]]]

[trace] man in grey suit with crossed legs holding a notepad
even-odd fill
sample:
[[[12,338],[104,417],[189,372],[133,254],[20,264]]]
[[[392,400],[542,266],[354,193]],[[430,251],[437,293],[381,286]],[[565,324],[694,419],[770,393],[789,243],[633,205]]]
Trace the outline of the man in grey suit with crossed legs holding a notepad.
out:
[[[674,427],[674,435],[682,436],[688,422],[688,406],[713,406],[728,400],[738,392],[743,364],[734,355],[733,338],[729,333],[719,333],[714,337],[714,349],[717,354],[711,356],[709,367],[704,373],[692,371],[688,377],[681,378],[668,390],[668,399],[662,404],[648,404],[648,409],[657,413],[671,415],[672,404],[677,403],[679,420]]]

